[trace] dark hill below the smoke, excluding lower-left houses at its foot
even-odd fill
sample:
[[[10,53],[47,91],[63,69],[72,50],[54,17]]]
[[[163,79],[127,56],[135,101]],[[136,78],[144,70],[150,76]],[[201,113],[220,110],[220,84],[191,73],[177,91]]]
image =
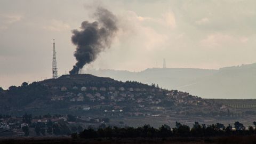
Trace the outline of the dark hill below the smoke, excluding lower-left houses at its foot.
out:
[[[231,107],[186,92],[88,74],[63,75],[58,79],[11,86],[0,94],[1,114],[22,115],[27,112],[33,115],[110,117],[116,121],[123,119],[130,125],[158,125],[179,119],[193,123],[193,119],[227,119],[235,113]],[[137,123],[138,119],[145,122]]]

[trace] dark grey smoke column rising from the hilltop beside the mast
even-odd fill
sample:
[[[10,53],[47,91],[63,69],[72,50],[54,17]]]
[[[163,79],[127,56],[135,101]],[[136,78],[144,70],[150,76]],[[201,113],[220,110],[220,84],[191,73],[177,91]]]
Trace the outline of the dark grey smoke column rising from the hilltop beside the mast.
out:
[[[72,31],[71,41],[77,46],[74,53],[77,62],[69,74],[78,74],[79,69],[82,69],[84,65],[97,59],[101,51],[110,47],[118,30],[117,18],[110,11],[99,7],[94,16],[97,21],[83,21],[81,30]]]

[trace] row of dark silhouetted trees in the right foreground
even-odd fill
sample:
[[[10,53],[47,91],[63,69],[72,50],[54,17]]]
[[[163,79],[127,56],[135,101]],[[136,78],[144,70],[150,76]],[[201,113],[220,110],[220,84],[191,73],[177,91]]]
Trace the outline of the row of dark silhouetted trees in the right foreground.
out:
[[[256,122],[253,122],[256,126]],[[235,130],[229,124],[224,126],[217,123],[212,125],[199,124],[195,122],[190,129],[189,126],[176,122],[176,126],[171,129],[168,125],[162,125],[158,129],[150,125],[143,125],[141,127],[105,127],[94,129],[85,129],[83,132],[77,134],[73,133],[73,138],[166,138],[166,137],[222,137],[230,135],[252,135],[256,134],[254,127],[249,126],[245,129],[244,125],[239,122],[234,124]]]

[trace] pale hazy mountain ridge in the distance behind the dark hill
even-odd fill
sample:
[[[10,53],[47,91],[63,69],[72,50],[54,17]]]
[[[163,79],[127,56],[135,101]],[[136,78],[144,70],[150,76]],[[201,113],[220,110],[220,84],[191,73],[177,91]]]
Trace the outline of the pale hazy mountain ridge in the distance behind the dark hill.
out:
[[[181,90],[202,98],[254,99],[256,63],[215,69],[148,68],[140,72],[85,70],[84,73],[119,81],[155,83],[170,90]]]

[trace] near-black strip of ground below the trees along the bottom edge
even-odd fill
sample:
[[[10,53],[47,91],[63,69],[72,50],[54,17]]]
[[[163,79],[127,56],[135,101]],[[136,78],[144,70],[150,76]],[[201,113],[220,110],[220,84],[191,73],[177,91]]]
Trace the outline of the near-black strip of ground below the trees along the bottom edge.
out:
[[[212,137],[212,138],[97,138],[97,139],[72,139],[66,137],[55,138],[19,138],[19,139],[0,139],[0,143],[11,144],[99,144],[99,143],[173,143],[173,144],[254,144],[256,143],[256,136],[230,136],[230,137]]]

